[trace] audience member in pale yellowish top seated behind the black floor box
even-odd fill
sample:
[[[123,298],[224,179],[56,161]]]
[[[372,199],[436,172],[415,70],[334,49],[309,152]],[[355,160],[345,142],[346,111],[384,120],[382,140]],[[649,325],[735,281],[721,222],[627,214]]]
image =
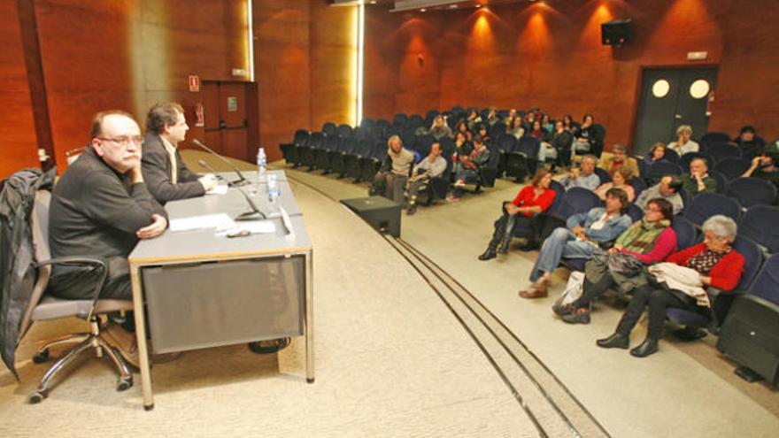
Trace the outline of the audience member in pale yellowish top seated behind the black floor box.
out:
[[[403,141],[398,135],[392,135],[387,144],[387,158],[374,177],[369,195],[382,195],[396,203],[403,203],[405,184],[414,161],[413,152],[403,149]]]

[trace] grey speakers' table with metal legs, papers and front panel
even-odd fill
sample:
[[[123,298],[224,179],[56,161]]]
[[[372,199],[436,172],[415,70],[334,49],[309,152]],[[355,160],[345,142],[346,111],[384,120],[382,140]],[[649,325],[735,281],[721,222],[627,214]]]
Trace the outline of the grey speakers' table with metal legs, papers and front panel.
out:
[[[168,229],[139,242],[128,257],[146,410],[154,407],[150,352],[302,335],[306,380],[313,382],[313,248],[288,181],[283,172],[273,173],[282,192],[277,207],[268,205],[263,188],[250,198],[274,232],[228,237],[213,227]],[[249,195],[254,188],[243,191]],[[235,219],[250,210],[238,188],[166,204],[171,221],[219,213]]]

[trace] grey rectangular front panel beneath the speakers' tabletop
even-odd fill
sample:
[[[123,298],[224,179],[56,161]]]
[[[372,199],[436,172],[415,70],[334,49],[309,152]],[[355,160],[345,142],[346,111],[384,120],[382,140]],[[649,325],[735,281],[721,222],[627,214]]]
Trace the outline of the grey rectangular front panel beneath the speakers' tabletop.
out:
[[[303,334],[305,257],[143,268],[155,353]]]

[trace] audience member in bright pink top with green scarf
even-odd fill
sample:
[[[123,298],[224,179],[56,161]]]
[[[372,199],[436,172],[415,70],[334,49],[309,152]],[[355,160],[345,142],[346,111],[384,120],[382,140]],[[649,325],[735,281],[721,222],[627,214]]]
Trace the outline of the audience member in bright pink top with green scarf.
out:
[[[627,293],[635,287],[644,265],[665,260],[676,250],[676,233],[671,227],[674,211],[662,198],[649,202],[646,214],[617,238],[606,251],[596,251],[584,266],[582,296],[570,305],[552,309],[571,324],[590,324],[590,304],[608,288]]]

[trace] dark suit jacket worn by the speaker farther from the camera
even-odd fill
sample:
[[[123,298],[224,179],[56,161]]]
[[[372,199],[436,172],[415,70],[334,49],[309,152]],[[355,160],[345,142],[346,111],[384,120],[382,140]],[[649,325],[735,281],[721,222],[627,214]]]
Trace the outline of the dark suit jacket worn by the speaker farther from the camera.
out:
[[[158,134],[146,133],[143,139],[141,162],[146,187],[160,204],[204,195],[203,184],[197,181],[199,176],[189,171],[181,159],[178,148],[176,148],[176,183],[171,182],[170,155]]]

